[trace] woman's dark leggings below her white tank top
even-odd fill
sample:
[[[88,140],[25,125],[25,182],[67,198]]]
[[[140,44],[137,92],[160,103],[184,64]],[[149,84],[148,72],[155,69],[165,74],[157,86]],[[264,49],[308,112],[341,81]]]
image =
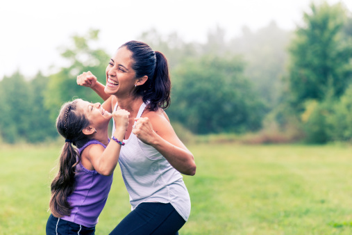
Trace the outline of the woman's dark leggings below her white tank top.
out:
[[[110,234],[178,234],[185,220],[167,203],[139,204]]]

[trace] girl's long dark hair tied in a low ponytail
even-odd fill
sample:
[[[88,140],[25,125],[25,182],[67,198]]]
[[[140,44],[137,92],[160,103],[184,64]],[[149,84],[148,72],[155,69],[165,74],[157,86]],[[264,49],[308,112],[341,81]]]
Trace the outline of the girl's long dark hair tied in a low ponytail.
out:
[[[88,138],[82,130],[89,125],[87,117],[77,111],[77,99],[64,104],[56,120],[58,133],[77,147],[87,143]],[[51,182],[50,210],[53,216],[60,218],[71,214],[72,206],[67,196],[74,192],[74,175],[80,156],[70,142],[65,142],[59,159],[59,171]]]

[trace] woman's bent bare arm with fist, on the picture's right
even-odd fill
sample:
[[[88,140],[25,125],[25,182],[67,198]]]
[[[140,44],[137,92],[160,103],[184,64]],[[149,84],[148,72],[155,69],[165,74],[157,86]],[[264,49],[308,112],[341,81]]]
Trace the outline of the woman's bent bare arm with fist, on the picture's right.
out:
[[[164,114],[150,112],[147,117],[136,118],[133,133],[147,145],[151,145],[184,175],[196,174],[192,153],[183,145]]]

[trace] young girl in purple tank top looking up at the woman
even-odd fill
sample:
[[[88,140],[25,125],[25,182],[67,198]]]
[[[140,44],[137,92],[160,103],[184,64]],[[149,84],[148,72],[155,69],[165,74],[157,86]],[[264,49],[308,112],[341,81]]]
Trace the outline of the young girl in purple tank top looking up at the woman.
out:
[[[128,111],[105,111],[82,99],[64,104],[56,127],[65,138],[60,169],[51,183],[47,234],[94,234],[128,127]],[[108,138],[108,123],[117,125]],[[74,146],[76,147],[74,147]]]

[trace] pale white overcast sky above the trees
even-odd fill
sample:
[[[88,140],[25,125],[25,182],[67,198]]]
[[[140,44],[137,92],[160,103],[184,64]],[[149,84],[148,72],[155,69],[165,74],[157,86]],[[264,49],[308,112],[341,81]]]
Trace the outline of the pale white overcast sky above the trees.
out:
[[[319,0],[317,0],[319,1]],[[99,47],[108,54],[150,29],[178,33],[183,40],[204,42],[220,26],[226,37],[243,26],[256,31],[272,20],[281,29],[301,23],[308,0],[17,0],[0,3],[0,79],[19,69],[25,76],[63,65],[58,47],[76,33],[100,29]],[[352,0],[342,2],[352,12]]]

